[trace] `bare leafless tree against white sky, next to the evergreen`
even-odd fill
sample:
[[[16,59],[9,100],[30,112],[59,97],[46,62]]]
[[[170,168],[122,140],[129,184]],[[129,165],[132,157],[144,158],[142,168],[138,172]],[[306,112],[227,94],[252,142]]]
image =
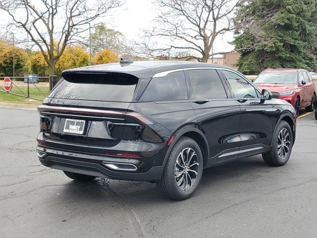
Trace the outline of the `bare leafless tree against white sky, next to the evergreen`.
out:
[[[240,0],[154,0],[160,9],[160,27],[145,32],[137,51],[150,57],[196,59],[207,62],[215,39],[233,30],[232,18]],[[172,44],[157,44],[161,38]],[[190,53],[190,54],[188,54]]]

